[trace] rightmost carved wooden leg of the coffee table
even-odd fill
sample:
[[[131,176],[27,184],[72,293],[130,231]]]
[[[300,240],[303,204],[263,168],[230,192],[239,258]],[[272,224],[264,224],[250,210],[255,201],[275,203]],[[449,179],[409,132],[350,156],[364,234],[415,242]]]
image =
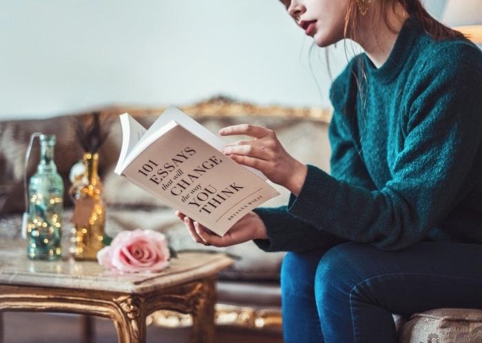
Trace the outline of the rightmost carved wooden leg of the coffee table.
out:
[[[192,317],[192,343],[211,343],[214,335],[214,305],[216,304],[215,279],[208,278],[203,282],[202,291],[198,294]]]

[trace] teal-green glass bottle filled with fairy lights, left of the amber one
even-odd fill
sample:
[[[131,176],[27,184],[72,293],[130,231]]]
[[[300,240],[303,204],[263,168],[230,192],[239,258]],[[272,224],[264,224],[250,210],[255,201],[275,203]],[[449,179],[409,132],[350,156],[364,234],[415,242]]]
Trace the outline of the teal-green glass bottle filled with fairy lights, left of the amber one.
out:
[[[28,187],[27,256],[62,257],[63,180],[54,163],[55,135],[40,135],[40,162]]]

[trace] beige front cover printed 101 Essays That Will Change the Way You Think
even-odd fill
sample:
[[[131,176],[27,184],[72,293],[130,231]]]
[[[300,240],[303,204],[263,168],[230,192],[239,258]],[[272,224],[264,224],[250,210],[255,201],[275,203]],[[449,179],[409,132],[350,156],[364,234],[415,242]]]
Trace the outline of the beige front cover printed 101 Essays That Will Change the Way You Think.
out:
[[[124,174],[221,236],[253,208],[279,195],[180,124],[149,144]]]

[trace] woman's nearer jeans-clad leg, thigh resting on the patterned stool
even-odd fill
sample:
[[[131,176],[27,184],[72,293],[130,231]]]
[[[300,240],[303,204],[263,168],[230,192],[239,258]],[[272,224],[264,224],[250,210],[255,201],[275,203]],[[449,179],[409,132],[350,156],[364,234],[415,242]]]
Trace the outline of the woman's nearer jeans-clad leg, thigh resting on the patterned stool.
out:
[[[315,300],[326,342],[396,342],[391,313],[482,309],[482,245],[421,242],[384,251],[343,243],[322,256]]]

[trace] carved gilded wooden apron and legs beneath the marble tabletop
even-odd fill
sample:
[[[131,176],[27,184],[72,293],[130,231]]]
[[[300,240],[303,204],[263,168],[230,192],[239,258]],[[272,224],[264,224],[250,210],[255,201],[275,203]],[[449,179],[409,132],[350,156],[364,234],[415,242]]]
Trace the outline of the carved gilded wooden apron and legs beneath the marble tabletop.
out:
[[[215,283],[216,277],[211,276],[147,294],[0,285],[0,311],[67,312],[101,316],[114,321],[118,342],[143,343],[146,342],[147,316],[154,311],[166,309],[192,316],[191,342],[212,342]]]

